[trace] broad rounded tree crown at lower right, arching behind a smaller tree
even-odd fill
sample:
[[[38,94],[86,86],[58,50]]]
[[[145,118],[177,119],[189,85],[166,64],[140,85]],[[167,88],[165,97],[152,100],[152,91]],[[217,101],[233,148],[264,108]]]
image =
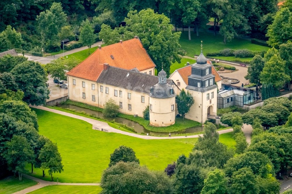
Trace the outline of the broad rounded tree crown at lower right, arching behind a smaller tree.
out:
[[[253,174],[260,177],[274,175],[273,164],[268,156],[257,151],[247,151],[230,158],[224,165],[224,171],[228,177],[232,177],[233,172],[244,167],[251,168]]]

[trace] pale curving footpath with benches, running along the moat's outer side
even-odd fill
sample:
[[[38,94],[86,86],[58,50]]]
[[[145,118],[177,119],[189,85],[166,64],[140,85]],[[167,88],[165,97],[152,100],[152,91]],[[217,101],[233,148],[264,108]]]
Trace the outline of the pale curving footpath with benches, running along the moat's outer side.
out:
[[[44,106],[31,106],[31,107],[36,108],[36,109],[46,110],[46,111],[49,111],[49,112],[54,112],[54,113],[57,113],[57,114],[62,114],[62,115],[67,116],[67,117],[72,117],[72,118],[75,118],[75,119],[80,119],[80,120],[86,121],[86,122],[92,124],[92,128],[93,129],[95,127],[98,127],[100,129],[101,128],[102,129],[106,129],[106,130],[108,130],[108,132],[120,133],[120,134],[123,134],[123,135],[128,135],[128,136],[132,136],[132,137],[138,137],[140,139],[145,139],[145,140],[197,138],[197,137],[203,135],[203,134],[188,135],[187,137],[185,137],[185,135],[183,135],[183,136],[173,136],[173,137],[156,137],[156,136],[140,135],[140,134],[136,134],[136,133],[129,133],[129,132],[126,132],[126,131],[115,129],[115,128],[109,126],[106,122],[98,121],[98,120],[91,119],[91,118],[88,118],[88,117],[79,116],[79,115],[72,114],[72,113],[69,113],[69,112],[55,110],[55,109],[51,109],[51,108],[44,107]],[[223,133],[229,133],[231,131],[233,131],[232,128],[220,130],[220,131],[218,131],[218,133],[219,134],[223,134]]]

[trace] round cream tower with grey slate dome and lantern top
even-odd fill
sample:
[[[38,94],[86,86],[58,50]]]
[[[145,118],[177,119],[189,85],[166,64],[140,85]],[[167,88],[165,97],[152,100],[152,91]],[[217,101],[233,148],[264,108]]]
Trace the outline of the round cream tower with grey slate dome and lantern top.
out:
[[[167,83],[166,72],[158,73],[158,83],[151,87],[149,94],[150,125],[170,126],[175,123],[175,93]]]

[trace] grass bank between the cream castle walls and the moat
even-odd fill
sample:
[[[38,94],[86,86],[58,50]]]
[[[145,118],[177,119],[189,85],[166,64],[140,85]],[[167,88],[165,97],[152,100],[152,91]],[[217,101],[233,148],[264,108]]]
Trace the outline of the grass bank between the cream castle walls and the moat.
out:
[[[80,103],[80,102],[76,102],[76,101],[72,101],[72,100],[67,100],[64,104],[74,105],[74,106],[81,107],[81,108],[87,108],[89,110],[94,110],[94,111],[98,111],[98,112],[102,112],[102,110],[103,110],[100,107],[96,107],[96,106],[92,106],[92,105],[88,105],[88,104],[84,104],[84,103]],[[183,121],[182,117],[175,118],[175,124],[172,126],[167,126],[167,127],[150,126],[149,120],[145,120],[142,117],[134,117],[133,115],[129,115],[129,114],[119,113],[118,117],[128,119],[130,121],[135,121],[149,131],[160,132],[160,133],[171,133],[171,132],[177,132],[177,131],[184,131],[187,128],[201,126],[201,124],[199,122],[193,121],[190,119],[185,119]]]

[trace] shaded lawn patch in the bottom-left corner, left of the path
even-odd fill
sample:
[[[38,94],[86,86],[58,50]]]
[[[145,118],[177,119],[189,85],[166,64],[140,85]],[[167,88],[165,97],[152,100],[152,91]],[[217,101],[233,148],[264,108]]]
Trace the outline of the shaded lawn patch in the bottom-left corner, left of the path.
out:
[[[22,177],[22,181],[19,181],[18,177],[7,177],[0,180],[0,193],[1,194],[10,194],[17,191],[21,191],[27,187],[36,185],[37,182],[31,179]]]

